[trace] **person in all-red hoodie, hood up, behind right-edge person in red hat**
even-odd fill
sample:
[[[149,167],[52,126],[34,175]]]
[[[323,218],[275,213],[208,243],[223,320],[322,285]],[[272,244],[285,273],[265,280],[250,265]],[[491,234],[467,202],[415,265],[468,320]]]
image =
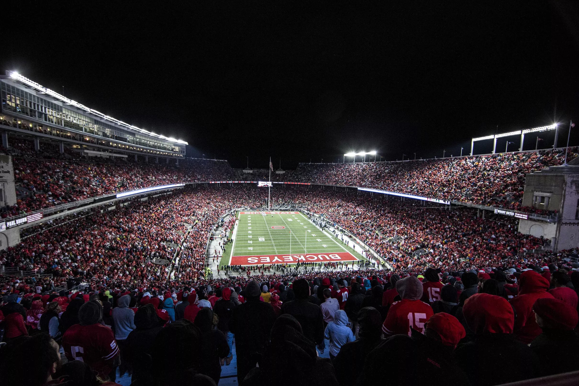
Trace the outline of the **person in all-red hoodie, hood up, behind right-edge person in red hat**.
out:
[[[519,278],[519,295],[511,299],[516,312],[514,333],[518,340],[529,344],[541,333],[535,321],[533,304],[541,297],[553,297],[547,292],[549,281],[535,271],[525,271]]]

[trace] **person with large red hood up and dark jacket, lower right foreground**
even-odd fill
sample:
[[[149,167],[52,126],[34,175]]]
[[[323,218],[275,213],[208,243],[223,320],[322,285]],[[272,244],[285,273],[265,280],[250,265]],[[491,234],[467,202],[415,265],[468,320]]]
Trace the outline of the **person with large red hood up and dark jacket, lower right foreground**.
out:
[[[504,297],[476,293],[464,302],[463,314],[475,339],[459,345],[455,358],[472,385],[498,385],[538,375],[537,356],[512,334],[515,315]]]

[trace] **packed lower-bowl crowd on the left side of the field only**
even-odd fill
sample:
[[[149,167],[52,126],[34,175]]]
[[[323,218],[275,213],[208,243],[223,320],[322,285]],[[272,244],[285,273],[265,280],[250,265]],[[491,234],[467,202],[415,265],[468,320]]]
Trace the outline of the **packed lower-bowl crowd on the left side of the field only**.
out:
[[[148,201],[130,201],[125,207],[104,214],[54,226],[0,253],[0,264],[53,274],[59,283],[69,275],[105,284],[137,285],[166,281],[167,271],[151,262],[173,260],[182,248],[182,268],[195,279],[204,263],[207,234],[218,217],[241,207],[251,198],[247,189],[187,189]],[[187,233],[186,224],[193,229]],[[195,273],[193,273],[195,272]]]

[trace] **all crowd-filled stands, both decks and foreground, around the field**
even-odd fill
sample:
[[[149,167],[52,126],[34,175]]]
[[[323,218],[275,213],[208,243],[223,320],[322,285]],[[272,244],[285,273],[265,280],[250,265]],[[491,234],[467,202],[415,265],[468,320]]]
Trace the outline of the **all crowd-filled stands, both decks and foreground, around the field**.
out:
[[[4,216],[127,189],[243,177],[223,161],[188,159],[177,166],[87,160],[50,150],[39,155],[25,142],[11,151],[21,197]],[[521,209],[525,173],[561,162],[560,152],[547,151],[405,163],[301,164],[284,177]],[[52,378],[92,374],[85,371],[91,368],[114,381],[120,359],[119,375],[132,371],[137,385],[214,384],[221,366],[233,359],[233,344],[239,384],[248,385],[312,380],[376,384],[386,378],[393,384],[405,378],[494,385],[579,370],[579,358],[567,350],[579,343],[573,332],[579,264],[569,262],[575,251],[544,251],[544,240],[518,233],[516,220],[507,216],[483,219],[467,207],[287,185],[274,186],[274,204],[338,223],[383,256],[392,270],[369,264],[357,271],[328,266],[269,275],[254,270],[250,277],[207,275],[207,238],[219,217],[233,208],[260,207],[265,197],[265,190],[255,186],[186,187],[146,201],[127,201],[114,211],[94,209],[72,221],[63,218],[25,230],[20,244],[0,252],[5,268],[36,273],[0,275],[0,328],[9,343],[0,348],[3,377],[43,385]],[[232,219],[224,225],[232,226]],[[68,291],[80,282],[89,286]],[[329,288],[329,298],[324,288]],[[319,307],[331,299],[339,301],[343,314]],[[208,305],[211,311],[204,310]],[[221,322],[211,328],[214,313]],[[91,315],[102,318],[92,320]],[[480,323],[485,318],[488,322]],[[112,332],[98,330],[100,320]],[[333,323],[329,329],[328,323]],[[72,325],[76,327],[67,334]],[[319,334],[324,329],[326,341]],[[107,359],[95,360],[89,347],[82,355],[75,352],[79,343],[69,342],[82,340],[77,330],[104,334],[106,344],[92,350],[109,347]],[[187,350],[205,350],[206,357],[170,361],[163,367],[173,369],[167,376],[159,372],[159,363],[182,350],[179,341],[186,342]],[[251,341],[261,343],[253,347]],[[65,350],[66,365],[53,370],[46,363],[59,359],[51,356],[28,364],[34,372],[23,371],[23,358],[31,352],[47,356],[56,344]],[[218,344],[219,350],[210,348]],[[250,349],[262,359],[254,359]],[[151,356],[135,357],[135,350]],[[565,352],[565,360],[552,360],[553,350]],[[272,371],[263,358],[277,358],[281,352],[292,359]],[[412,368],[404,355],[398,358],[393,352],[413,353]],[[504,366],[504,358],[513,353],[516,360]],[[331,359],[320,358],[328,354]],[[464,361],[474,355],[479,355],[474,363],[496,370],[481,372]],[[74,361],[79,358],[83,362]]]

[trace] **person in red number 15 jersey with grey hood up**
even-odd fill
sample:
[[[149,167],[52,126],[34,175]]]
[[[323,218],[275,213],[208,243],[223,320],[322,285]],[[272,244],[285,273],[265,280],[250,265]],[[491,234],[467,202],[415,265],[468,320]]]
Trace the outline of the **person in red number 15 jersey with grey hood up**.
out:
[[[420,300],[422,297],[422,283],[416,276],[398,280],[396,289],[402,300],[395,302],[388,310],[386,320],[382,325],[382,332],[386,336],[407,334],[411,336],[411,328],[424,333],[424,323],[434,315],[432,307]]]

